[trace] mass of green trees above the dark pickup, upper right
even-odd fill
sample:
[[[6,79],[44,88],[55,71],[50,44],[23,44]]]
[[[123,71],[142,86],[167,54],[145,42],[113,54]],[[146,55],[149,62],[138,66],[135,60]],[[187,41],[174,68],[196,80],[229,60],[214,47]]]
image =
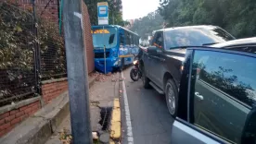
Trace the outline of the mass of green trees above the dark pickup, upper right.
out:
[[[217,25],[237,38],[256,35],[255,0],[160,0],[168,27]]]

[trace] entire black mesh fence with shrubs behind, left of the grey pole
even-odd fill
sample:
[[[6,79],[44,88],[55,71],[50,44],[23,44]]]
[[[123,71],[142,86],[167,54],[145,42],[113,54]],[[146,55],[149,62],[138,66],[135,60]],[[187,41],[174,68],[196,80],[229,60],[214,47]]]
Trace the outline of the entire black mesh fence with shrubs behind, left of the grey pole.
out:
[[[34,16],[0,2],[0,107],[41,94],[42,80],[67,77],[58,23]]]

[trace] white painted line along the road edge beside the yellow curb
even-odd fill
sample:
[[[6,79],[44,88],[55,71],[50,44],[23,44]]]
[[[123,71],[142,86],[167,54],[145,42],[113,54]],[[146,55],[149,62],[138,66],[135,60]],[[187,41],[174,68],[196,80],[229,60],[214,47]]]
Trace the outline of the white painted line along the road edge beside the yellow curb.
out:
[[[124,79],[123,78],[123,73],[121,73],[121,74],[122,74],[122,79]],[[126,127],[127,127],[127,130],[126,130],[127,140],[128,140],[128,144],[134,144],[131,115],[130,115],[129,103],[128,103],[128,98],[127,98],[127,93],[126,93],[124,80],[122,80],[122,93],[123,93],[125,120],[126,120]]]

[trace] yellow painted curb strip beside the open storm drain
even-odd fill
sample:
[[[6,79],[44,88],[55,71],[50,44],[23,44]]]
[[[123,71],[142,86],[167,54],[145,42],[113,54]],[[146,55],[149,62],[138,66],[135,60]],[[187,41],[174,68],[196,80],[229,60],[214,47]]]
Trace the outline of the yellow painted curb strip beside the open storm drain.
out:
[[[121,138],[121,110],[119,99],[114,99],[110,124],[110,137],[113,139]]]

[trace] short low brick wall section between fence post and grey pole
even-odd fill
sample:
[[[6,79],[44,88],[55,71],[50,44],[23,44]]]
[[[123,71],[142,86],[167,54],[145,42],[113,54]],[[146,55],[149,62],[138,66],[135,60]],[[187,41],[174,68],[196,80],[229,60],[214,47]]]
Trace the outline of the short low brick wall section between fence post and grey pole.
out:
[[[66,90],[68,90],[67,80],[45,83],[42,86],[43,101],[47,104]]]

